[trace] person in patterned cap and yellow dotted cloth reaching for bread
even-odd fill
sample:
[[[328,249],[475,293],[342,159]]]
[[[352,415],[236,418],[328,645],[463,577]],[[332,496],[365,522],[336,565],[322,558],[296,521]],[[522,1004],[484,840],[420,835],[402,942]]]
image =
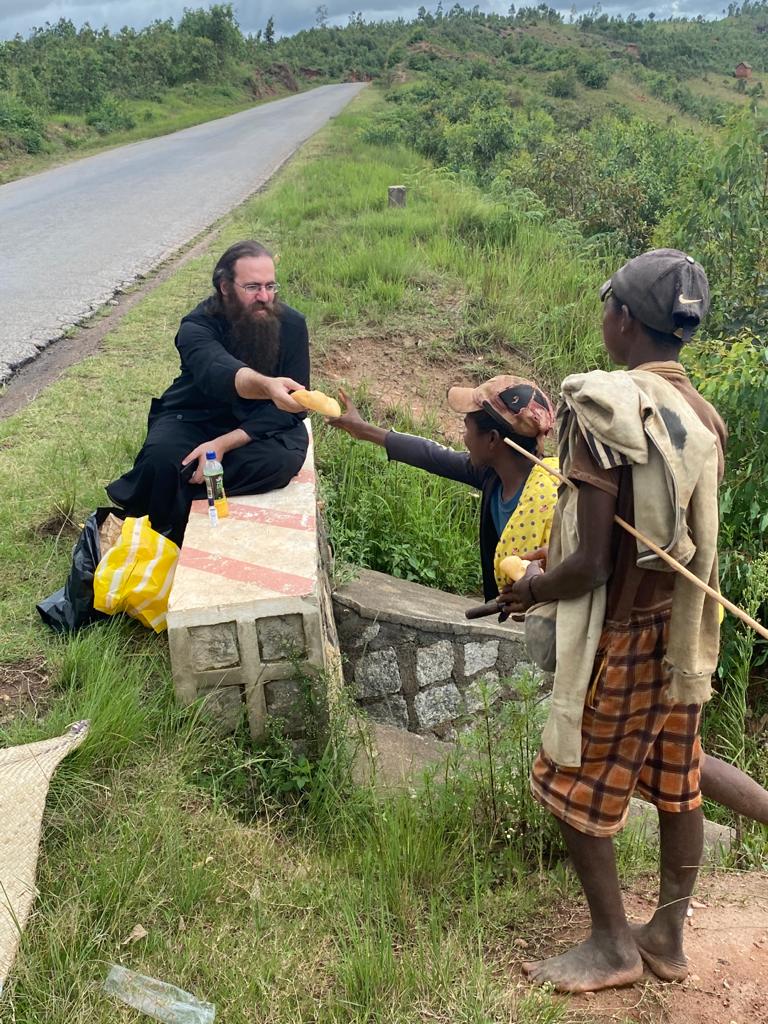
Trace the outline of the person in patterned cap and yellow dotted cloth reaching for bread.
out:
[[[535,466],[504,438],[542,456],[543,441],[554,423],[552,403],[532,381],[505,375],[479,387],[452,387],[449,407],[464,414],[467,452],[454,452],[436,441],[386,430],[368,423],[342,390],[344,414],[329,420],[358,440],[386,449],[392,462],[407,463],[436,476],[476,487],[480,506],[480,562],[486,601],[507,580],[499,563],[507,555],[523,555],[546,545],[557,504],[557,479]],[[553,466],[554,459],[545,460]]]

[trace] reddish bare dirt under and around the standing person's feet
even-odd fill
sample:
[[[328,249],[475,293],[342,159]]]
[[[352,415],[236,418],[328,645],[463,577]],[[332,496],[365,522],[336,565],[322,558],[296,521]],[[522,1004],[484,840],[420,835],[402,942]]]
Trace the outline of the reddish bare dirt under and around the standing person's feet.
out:
[[[654,881],[635,886],[625,902],[631,920],[647,920],[655,904]],[[531,942],[525,959],[561,952],[584,938],[587,924],[588,915],[580,908],[574,920],[558,932],[556,943],[546,938]],[[691,973],[682,984],[665,984],[646,973],[642,982],[628,989],[571,996],[567,1019],[615,1024],[768,1024],[768,873],[701,876],[685,949]]]

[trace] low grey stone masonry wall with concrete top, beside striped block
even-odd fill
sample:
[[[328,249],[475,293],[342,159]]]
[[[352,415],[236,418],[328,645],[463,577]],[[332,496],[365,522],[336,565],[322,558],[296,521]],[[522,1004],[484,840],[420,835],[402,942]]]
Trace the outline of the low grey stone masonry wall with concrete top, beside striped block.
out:
[[[370,717],[451,739],[483,708],[514,697],[525,664],[516,625],[468,621],[473,602],[362,570],[334,594],[344,679]]]

